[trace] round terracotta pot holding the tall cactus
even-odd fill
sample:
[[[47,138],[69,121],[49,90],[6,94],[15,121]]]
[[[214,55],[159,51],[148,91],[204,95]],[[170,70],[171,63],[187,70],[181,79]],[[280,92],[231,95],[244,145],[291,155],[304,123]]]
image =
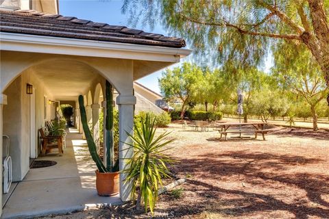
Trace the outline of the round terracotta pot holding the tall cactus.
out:
[[[96,189],[100,196],[119,194],[119,172],[96,172]]]

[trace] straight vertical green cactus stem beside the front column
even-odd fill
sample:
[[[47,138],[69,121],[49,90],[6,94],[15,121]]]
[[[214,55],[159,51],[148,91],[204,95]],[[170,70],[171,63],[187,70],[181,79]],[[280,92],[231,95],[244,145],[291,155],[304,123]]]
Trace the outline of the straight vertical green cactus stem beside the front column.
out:
[[[113,92],[112,85],[106,81],[106,168],[114,170],[114,143],[113,143]]]

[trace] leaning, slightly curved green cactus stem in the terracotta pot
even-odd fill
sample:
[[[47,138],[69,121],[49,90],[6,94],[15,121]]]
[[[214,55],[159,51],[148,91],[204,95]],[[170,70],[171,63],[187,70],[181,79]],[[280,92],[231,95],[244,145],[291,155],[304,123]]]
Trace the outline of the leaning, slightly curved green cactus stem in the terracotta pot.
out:
[[[93,157],[93,160],[94,160],[99,172],[108,172],[108,170],[104,166],[103,162],[101,162],[101,158],[97,154],[96,144],[94,142],[93,135],[88,127],[86,108],[84,107],[84,96],[82,96],[82,95],[79,96],[79,107],[80,107],[81,123],[82,123],[82,127],[84,129],[84,134],[86,136],[90,155],[91,155],[91,157]]]

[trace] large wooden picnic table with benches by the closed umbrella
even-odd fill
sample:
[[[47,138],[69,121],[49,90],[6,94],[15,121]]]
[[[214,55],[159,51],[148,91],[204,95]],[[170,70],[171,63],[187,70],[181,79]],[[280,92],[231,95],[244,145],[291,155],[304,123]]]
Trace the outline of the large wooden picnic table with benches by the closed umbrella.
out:
[[[221,134],[221,138],[225,136],[225,140],[228,140],[228,133],[239,133],[241,138],[241,133],[245,132],[254,132],[255,138],[257,138],[257,134],[261,133],[263,136],[263,140],[265,140],[265,133],[267,133],[269,130],[265,130],[264,126],[267,125],[267,123],[259,123],[259,122],[251,122],[251,123],[217,123],[216,129]],[[254,129],[252,130],[243,130],[243,126],[252,126]],[[237,130],[228,130],[230,127],[241,127],[241,129]]]

